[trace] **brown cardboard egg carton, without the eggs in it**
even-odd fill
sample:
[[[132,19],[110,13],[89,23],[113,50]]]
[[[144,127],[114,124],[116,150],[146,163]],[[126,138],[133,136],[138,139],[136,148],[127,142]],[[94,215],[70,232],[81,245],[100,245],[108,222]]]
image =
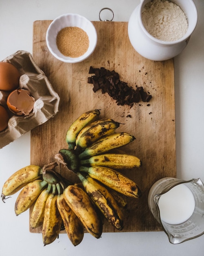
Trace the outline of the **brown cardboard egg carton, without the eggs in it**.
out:
[[[59,106],[58,94],[53,90],[48,78],[37,66],[29,52],[15,52],[3,61],[9,62],[18,68],[21,74],[19,88],[28,89],[35,99],[35,104],[30,115],[17,116],[7,108],[6,102],[9,93],[0,91],[0,105],[7,108],[10,115],[7,129],[0,132],[0,148],[54,117]]]

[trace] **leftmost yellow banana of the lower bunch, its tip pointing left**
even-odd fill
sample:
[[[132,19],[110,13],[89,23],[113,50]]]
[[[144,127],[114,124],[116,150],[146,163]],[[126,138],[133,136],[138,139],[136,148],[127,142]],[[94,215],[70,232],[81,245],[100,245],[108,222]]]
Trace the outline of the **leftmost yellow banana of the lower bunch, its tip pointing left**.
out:
[[[37,165],[28,165],[13,173],[4,183],[2,199],[7,195],[13,195],[26,184],[42,177],[42,168]]]

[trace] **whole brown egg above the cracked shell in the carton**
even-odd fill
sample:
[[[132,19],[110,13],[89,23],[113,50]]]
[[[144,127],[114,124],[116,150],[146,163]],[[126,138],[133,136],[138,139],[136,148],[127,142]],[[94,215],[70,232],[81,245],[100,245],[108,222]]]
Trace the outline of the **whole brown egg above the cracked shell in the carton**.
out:
[[[9,62],[0,61],[0,90],[13,91],[19,87],[20,72]]]

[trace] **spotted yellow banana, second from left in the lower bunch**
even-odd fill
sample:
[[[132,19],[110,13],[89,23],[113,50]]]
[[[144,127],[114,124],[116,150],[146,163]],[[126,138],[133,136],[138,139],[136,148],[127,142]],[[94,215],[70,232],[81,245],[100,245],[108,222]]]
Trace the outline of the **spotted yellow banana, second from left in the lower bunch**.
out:
[[[44,180],[34,180],[24,186],[15,201],[16,216],[29,209],[47,185]]]

